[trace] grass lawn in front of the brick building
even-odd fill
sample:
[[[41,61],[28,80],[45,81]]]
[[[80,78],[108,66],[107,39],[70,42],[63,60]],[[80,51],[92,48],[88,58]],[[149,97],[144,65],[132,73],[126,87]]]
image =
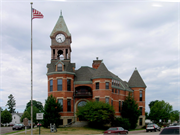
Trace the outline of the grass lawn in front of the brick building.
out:
[[[46,129],[41,127],[41,135],[59,135],[59,134],[103,134],[105,130],[100,130],[100,129],[93,129],[93,128],[88,128],[88,127],[67,127],[67,128],[57,128],[57,132],[51,133],[50,129]],[[31,130],[28,130],[25,134],[25,131],[18,133],[18,135],[29,135],[31,134]],[[39,128],[35,128],[33,130],[33,135],[38,134],[39,135]]]

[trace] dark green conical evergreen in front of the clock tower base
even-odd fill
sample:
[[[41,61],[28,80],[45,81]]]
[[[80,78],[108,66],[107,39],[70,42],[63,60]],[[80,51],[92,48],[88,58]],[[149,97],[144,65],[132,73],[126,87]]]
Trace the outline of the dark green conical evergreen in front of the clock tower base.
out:
[[[44,106],[44,119],[43,126],[48,127],[50,123],[55,123],[56,127],[60,124],[60,111],[62,110],[61,104],[56,101],[52,95],[47,98]]]

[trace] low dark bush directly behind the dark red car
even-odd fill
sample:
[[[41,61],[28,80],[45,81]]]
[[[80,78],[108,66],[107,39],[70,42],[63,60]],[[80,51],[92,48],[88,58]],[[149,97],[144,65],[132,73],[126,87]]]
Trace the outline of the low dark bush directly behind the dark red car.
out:
[[[129,130],[131,127],[131,124],[129,123],[129,120],[127,118],[116,118],[111,125],[113,127],[123,127],[127,130]]]

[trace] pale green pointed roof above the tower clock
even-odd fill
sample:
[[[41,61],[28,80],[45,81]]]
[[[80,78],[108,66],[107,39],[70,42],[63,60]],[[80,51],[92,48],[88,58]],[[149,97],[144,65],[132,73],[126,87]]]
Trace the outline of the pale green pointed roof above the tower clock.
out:
[[[64,21],[64,18],[63,18],[63,16],[62,16],[62,13],[61,13],[61,15],[59,16],[59,19],[58,19],[56,25],[54,26],[54,29],[53,29],[53,31],[51,32],[50,37],[51,37],[51,38],[52,38],[52,37],[55,37],[55,35],[57,34],[57,32],[64,32],[64,33],[67,34],[68,37],[71,36],[71,34],[69,33],[69,30],[68,30],[68,28],[67,28],[67,26],[66,26],[66,23],[65,23],[65,21]]]

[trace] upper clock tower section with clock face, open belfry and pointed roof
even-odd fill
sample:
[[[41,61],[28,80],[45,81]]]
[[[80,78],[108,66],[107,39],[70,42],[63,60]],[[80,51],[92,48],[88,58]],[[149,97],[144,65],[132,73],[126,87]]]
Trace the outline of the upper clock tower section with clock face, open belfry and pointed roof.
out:
[[[51,59],[71,60],[71,34],[63,19],[62,13],[51,32]]]

